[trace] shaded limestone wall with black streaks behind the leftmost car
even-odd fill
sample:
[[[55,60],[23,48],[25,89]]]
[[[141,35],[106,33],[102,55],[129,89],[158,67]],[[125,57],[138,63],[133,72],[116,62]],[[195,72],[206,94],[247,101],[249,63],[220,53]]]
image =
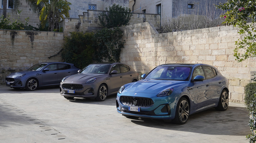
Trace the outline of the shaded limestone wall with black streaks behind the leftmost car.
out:
[[[61,61],[60,54],[54,55],[62,45],[61,32],[0,30],[0,84],[5,84],[11,72],[27,70],[40,62]]]

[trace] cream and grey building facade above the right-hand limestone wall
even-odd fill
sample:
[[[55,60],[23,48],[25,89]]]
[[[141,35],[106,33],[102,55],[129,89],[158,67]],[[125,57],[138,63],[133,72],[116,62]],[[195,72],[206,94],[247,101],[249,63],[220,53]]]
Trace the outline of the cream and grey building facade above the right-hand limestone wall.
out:
[[[223,11],[216,9],[214,5],[227,0],[130,0],[129,8],[133,12],[153,13],[161,15],[161,23],[177,17],[187,19],[192,15],[205,16],[207,20],[214,21],[214,26],[220,24],[219,17]],[[192,16],[193,17],[193,16]],[[217,20],[217,22],[215,22]]]

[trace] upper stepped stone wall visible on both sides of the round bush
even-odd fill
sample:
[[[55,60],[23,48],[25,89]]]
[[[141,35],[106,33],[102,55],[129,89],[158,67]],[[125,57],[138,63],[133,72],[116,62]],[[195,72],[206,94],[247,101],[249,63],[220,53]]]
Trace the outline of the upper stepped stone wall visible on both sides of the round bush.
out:
[[[83,12],[83,15],[79,15],[79,18],[65,18],[60,22],[60,27],[63,27],[65,36],[73,31],[87,32],[100,29],[98,16],[102,12],[104,11],[87,10],[87,12]],[[159,14],[133,13],[130,24],[150,22],[156,26],[156,21],[160,21]]]

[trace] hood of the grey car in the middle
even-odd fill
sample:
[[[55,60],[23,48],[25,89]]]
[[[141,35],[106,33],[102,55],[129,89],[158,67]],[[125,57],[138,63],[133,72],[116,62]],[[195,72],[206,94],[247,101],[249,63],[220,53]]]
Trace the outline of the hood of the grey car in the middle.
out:
[[[77,73],[77,74],[68,76],[65,81],[87,81],[91,78],[97,78],[100,76],[106,76],[106,74]]]

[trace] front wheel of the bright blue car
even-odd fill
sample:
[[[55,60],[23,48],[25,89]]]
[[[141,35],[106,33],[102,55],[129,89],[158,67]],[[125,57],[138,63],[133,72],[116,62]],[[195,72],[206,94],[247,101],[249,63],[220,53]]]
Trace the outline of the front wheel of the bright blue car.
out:
[[[172,122],[176,124],[185,124],[188,120],[189,110],[190,108],[187,99],[181,97],[177,104],[175,117]]]

